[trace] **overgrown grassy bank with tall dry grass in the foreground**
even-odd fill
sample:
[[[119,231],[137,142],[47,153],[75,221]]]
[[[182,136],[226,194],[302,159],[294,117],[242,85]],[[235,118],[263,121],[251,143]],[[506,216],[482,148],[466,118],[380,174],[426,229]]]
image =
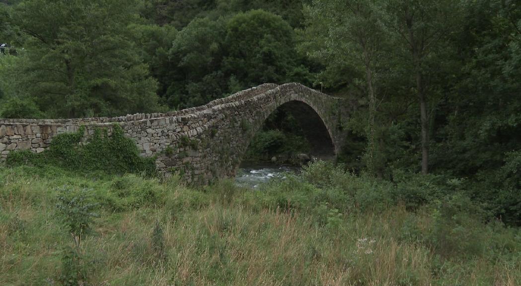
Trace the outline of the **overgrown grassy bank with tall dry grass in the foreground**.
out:
[[[427,185],[324,163],[255,190],[2,168],[0,284],[519,285],[519,230],[461,197],[412,209],[393,195]],[[75,255],[78,214],[91,231]]]

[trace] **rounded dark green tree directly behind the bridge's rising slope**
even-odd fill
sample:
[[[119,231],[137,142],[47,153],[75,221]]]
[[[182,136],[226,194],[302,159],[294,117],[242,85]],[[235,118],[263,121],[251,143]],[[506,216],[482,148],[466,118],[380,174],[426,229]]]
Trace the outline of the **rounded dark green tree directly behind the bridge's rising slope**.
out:
[[[196,18],[179,31],[169,52],[168,104],[203,105],[262,83],[309,83],[305,59],[289,24],[252,10],[231,18]]]

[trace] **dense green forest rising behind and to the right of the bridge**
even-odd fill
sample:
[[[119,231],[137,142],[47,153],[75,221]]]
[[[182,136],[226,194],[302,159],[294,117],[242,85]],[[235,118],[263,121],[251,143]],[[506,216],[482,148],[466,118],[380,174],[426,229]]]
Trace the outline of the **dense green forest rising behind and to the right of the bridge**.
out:
[[[356,105],[343,122],[351,135],[341,160],[350,168],[387,179],[396,170],[458,178],[472,196],[494,202],[497,216],[521,223],[516,1],[0,7],[0,42],[16,54],[0,58],[4,118],[156,112],[300,82]],[[264,137],[280,141],[276,132]]]

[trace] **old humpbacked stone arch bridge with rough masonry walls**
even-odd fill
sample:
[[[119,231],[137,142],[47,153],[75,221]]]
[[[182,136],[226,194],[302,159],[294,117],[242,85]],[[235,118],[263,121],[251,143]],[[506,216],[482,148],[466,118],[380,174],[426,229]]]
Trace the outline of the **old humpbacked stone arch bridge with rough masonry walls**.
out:
[[[340,152],[349,116],[344,100],[299,83],[263,84],[206,105],[170,113],[115,118],[0,119],[0,153],[31,150],[41,153],[54,136],[85,126],[87,139],[96,128],[110,135],[118,123],[143,156],[156,156],[160,171],[182,172],[187,181],[230,177],[240,164],[255,132],[276,109],[285,108],[300,122],[315,155]]]

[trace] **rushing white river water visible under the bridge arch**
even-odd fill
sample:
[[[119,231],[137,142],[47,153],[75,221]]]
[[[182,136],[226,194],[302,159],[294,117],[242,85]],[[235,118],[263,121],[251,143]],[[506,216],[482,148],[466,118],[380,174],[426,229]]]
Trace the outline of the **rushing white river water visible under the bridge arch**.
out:
[[[257,188],[261,183],[265,183],[270,179],[283,176],[285,172],[298,172],[297,167],[279,167],[279,166],[247,166],[241,167],[235,176],[235,183],[241,186],[249,186]]]

